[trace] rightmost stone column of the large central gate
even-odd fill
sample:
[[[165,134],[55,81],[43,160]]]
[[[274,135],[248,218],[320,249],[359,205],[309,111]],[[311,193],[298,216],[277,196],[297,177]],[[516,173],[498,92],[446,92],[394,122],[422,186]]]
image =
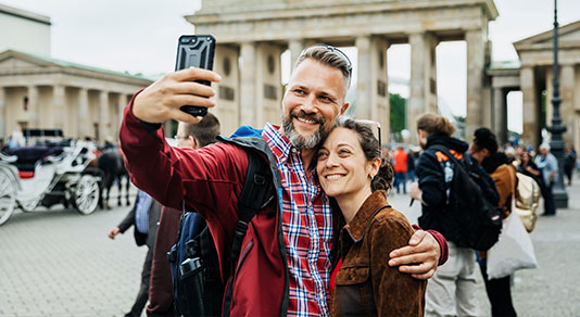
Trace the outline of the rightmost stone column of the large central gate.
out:
[[[467,42],[467,114],[465,137],[474,138],[474,132],[482,125],[481,91],[483,88],[483,67],[486,66],[486,33],[481,29],[468,30]]]

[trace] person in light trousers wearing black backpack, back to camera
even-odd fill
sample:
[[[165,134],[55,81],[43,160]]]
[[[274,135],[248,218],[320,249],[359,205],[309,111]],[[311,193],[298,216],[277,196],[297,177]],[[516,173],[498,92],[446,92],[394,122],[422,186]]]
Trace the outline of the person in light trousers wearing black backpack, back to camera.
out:
[[[477,316],[474,249],[491,248],[502,226],[493,181],[466,153],[468,144],[452,137],[454,131],[441,115],[424,114],[417,119],[425,151],[417,161],[418,182],[412,183],[409,196],[421,202],[419,226],[441,232],[450,249],[447,263],[427,284],[425,316]],[[487,152],[479,143],[471,148],[476,155]]]

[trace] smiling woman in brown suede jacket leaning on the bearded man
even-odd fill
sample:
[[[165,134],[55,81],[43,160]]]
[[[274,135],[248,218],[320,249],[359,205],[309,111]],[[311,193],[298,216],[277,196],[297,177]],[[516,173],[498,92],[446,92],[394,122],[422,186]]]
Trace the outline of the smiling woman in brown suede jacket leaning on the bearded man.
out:
[[[406,245],[414,230],[387,202],[393,172],[380,154],[371,129],[345,117],[318,151],[320,185],[346,223],[330,282],[331,316],[424,315],[426,281],[388,265],[389,253]]]

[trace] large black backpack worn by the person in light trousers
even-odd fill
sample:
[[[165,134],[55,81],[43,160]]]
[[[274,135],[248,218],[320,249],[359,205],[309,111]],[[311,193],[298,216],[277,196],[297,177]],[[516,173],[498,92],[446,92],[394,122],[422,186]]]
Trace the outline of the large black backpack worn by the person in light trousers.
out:
[[[489,250],[502,230],[501,208],[495,185],[489,182],[486,172],[467,156],[457,160],[441,145],[431,147],[443,152],[455,163],[450,183],[449,202],[442,216],[449,232],[441,232],[457,246],[477,251]]]

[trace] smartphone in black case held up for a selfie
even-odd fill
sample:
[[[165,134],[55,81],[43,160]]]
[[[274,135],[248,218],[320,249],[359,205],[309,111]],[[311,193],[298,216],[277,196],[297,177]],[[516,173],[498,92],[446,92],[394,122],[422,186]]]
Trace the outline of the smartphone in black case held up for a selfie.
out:
[[[177,43],[177,63],[175,71],[189,67],[213,69],[215,53],[215,38],[212,35],[182,35]],[[197,83],[210,86],[207,80],[196,80]],[[204,116],[207,114],[205,106],[184,105],[182,112],[192,116]]]

